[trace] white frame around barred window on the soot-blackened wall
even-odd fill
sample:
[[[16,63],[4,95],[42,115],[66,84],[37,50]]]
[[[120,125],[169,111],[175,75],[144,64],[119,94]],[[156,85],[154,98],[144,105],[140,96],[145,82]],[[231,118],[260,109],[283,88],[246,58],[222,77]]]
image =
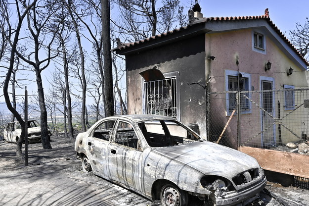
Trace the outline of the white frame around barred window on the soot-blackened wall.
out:
[[[180,81],[180,72],[179,71],[175,71],[175,72],[169,72],[169,73],[163,73],[165,78],[175,78],[176,79],[176,115],[177,115],[177,120],[181,121],[181,111],[180,111],[180,86],[179,86],[179,81]],[[141,77],[141,88],[142,88],[142,111],[143,114],[147,114],[147,109],[146,109],[146,105],[145,105],[145,79]]]

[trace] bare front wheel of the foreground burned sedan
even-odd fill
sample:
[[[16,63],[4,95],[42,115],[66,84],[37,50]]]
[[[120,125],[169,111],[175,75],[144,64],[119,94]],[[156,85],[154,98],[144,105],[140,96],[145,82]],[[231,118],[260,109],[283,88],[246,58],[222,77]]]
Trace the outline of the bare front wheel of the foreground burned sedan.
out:
[[[162,206],[188,205],[188,193],[171,184],[162,187],[160,199]]]

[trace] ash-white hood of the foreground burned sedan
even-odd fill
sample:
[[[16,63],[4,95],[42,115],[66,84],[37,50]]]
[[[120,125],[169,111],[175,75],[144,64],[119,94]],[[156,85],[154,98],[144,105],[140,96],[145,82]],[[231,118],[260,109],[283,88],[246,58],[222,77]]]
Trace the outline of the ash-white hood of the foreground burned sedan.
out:
[[[208,141],[153,148],[153,151],[186,164],[205,175],[232,178],[243,171],[259,167],[257,160],[248,154]]]

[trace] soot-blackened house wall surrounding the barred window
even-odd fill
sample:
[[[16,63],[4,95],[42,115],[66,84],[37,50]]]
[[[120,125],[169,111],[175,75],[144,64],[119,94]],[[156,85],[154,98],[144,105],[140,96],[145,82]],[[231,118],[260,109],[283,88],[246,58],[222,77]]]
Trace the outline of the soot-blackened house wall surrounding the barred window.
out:
[[[206,136],[205,34],[126,55],[129,114],[143,113],[139,73],[154,66],[163,74],[179,72],[179,120],[198,124]]]

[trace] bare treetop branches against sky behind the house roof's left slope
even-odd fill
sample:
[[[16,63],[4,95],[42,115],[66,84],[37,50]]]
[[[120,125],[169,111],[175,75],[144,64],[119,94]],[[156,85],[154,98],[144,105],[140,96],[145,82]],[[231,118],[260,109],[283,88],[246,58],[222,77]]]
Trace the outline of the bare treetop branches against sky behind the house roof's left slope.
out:
[[[185,23],[180,0],[116,0],[121,13],[114,24],[126,39],[138,41]]]

